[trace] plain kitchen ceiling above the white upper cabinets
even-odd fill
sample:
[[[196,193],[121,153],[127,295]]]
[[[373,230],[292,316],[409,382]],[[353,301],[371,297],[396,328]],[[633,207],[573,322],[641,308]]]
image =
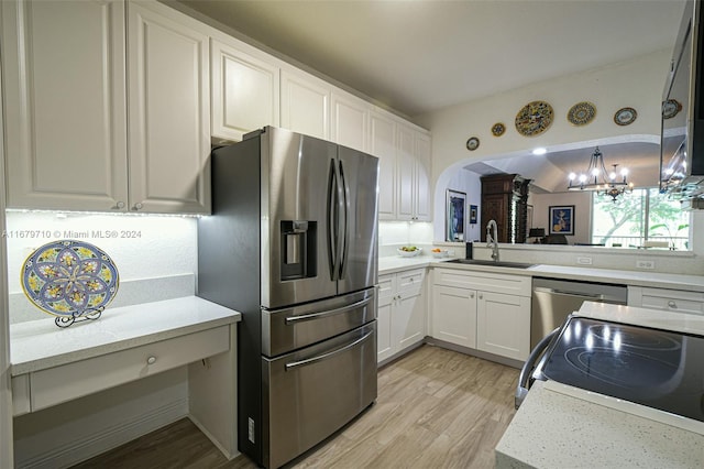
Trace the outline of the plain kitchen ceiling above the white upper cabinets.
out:
[[[672,47],[683,0],[178,1],[407,117]]]

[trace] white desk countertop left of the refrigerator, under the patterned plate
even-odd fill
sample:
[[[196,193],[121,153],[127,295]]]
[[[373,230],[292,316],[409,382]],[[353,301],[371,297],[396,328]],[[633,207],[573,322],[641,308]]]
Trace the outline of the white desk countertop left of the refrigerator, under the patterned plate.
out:
[[[108,308],[96,320],[59,328],[54,319],[10,326],[12,375],[219,327],[241,314],[197,296]]]

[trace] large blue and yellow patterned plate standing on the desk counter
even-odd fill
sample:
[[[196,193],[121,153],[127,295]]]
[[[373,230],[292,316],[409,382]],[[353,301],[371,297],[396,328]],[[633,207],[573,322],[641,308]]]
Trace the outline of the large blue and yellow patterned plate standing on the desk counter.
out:
[[[40,309],[64,317],[101,312],[118,293],[114,262],[82,241],[44,244],[24,261],[22,290]]]

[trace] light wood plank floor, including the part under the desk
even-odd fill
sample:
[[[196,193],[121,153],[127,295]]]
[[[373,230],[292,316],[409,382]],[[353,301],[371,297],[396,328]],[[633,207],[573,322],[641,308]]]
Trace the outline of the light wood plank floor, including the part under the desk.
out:
[[[376,404],[292,468],[492,468],[518,370],[422,346],[378,372]],[[243,469],[187,418],[75,468]]]

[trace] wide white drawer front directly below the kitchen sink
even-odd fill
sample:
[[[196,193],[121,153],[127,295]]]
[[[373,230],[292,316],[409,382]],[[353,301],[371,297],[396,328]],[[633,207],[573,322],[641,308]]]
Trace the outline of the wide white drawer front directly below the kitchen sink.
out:
[[[530,296],[531,280],[522,275],[505,275],[490,272],[436,269],[435,284],[458,288],[481,290],[508,295]]]

